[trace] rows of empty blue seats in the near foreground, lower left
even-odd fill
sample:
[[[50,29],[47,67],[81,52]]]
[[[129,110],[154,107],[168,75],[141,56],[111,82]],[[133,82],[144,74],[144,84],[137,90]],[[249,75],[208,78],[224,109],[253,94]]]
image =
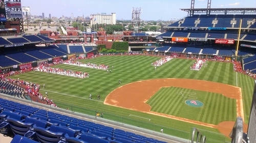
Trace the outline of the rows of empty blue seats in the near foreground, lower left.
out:
[[[76,119],[44,109],[8,101],[0,98],[0,120],[2,133],[12,131],[14,135],[25,136],[36,142],[164,142],[143,135],[114,129],[109,126]],[[14,140],[13,139],[13,140]],[[26,142],[30,142],[26,140]]]

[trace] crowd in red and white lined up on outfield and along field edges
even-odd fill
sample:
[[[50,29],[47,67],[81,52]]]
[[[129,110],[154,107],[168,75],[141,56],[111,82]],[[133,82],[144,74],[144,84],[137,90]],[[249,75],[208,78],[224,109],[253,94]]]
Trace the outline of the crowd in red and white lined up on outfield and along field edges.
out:
[[[133,53],[130,53],[130,52],[127,52],[125,53],[125,55],[137,55],[137,54],[142,54],[142,53],[136,53],[136,54],[133,54]],[[110,55],[114,55],[114,54],[108,54],[107,56],[110,56]],[[123,54],[121,54],[123,55]],[[148,54],[142,54],[142,55],[148,55]],[[98,55],[94,55],[94,56],[91,56],[91,58],[96,58],[97,56],[103,56],[102,54],[98,54]],[[155,55],[155,56],[159,56],[159,55]],[[171,56],[161,56],[162,58],[154,63],[152,63],[151,65],[152,66],[155,66],[155,70],[156,70],[156,66],[161,66],[163,64],[165,64],[166,62],[174,59],[174,58],[178,58],[178,54],[176,55],[171,55]],[[111,69],[109,69],[109,66],[106,66],[106,65],[96,65],[96,64],[92,64],[92,63],[82,63],[82,62],[79,62],[78,60],[79,59],[86,59],[83,57],[79,57],[79,58],[72,58],[70,60],[67,60],[67,61],[62,61],[62,60],[59,60],[59,61],[55,61],[53,63],[41,63],[39,66],[35,67],[35,68],[32,68],[32,67],[29,67],[29,68],[25,68],[25,69],[22,69],[22,70],[18,70],[18,71],[10,71],[10,72],[7,72],[7,73],[2,73],[0,74],[0,79],[1,81],[4,81],[4,82],[9,82],[9,83],[12,83],[14,85],[17,85],[18,87],[21,87],[22,89],[14,89],[15,91],[17,92],[24,92],[25,95],[28,95],[30,97],[36,97],[37,98],[37,102],[40,101],[40,102],[44,102],[46,104],[49,104],[53,107],[57,107],[57,105],[51,100],[48,98],[48,93],[46,92],[45,95],[44,94],[41,94],[40,93],[40,85],[37,84],[37,83],[32,83],[32,82],[27,82],[27,81],[24,81],[24,80],[19,80],[18,79],[12,79],[10,78],[11,76],[13,75],[16,75],[16,74],[22,74],[24,72],[29,72],[29,71],[40,71],[40,72],[47,72],[47,73],[53,73],[53,74],[60,74],[60,75],[66,75],[66,76],[73,76],[73,77],[78,77],[78,78],[85,78],[85,77],[89,77],[89,73],[86,73],[86,72],[77,72],[77,71],[72,71],[72,70],[65,70],[65,69],[60,69],[60,68],[52,68],[51,66],[53,65],[57,65],[57,64],[69,64],[69,65],[76,65],[76,66],[81,66],[81,67],[88,67],[88,68],[94,68],[94,69],[102,69],[102,70],[107,70],[107,73],[111,73]],[[236,61],[228,61],[228,60],[224,60],[222,58],[218,58],[215,57],[215,58],[205,58],[205,59],[200,59],[200,58],[195,58],[193,57],[193,59],[197,59],[197,61],[193,64],[193,66],[190,67],[190,69],[200,69],[203,65],[205,65],[205,67],[207,67],[207,61],[216,61],[216,62],[232,62],[233,64],[233,70],[236,71],[236,72],[240,72],[240,73],[243,73],[243,74],[247,74],[248,76],[256,79],[256,74],[250,72],[249,70],[243,70],[242,69],[242,66],[241,66],[241,62],[236,62]],[[112,69],[114,67],[112,66]],[[121,83],[121,80],[119,79],[118,83]],[[43,88],[46,88],[45,84],[43,85]],[[5,87],[0,87],[0,90],[1,89],[5,89]],[[92,98],[92,96],[90,96],[90,98]],[[99,98],[99,95],[98,95],[98,100],[100,99]]]

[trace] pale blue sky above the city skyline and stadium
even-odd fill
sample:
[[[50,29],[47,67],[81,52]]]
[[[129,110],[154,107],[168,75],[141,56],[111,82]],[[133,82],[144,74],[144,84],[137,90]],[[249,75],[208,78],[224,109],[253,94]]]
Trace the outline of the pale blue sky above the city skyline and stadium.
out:
[[[30,7],[32,15],[48,17],[89,16],[90,14],[116,13],[117,19],[132,19],[132,8],[142,8],[142,20],[170,20],[187,15],[180,9],[190,8],[190,0],[22,0],[23,7]],[[195,0],[195,8],[206,8],[207,0]],[[256,8],[255,0],[211,0],[211,8]]]

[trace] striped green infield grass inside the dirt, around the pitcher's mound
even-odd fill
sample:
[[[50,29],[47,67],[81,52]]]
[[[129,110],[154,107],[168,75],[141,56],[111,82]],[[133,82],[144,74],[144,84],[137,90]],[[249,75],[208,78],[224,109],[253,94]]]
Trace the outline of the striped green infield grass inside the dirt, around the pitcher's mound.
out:
[[[184,92],[183,96],[180,92]],[[196,94],[193,95],[194,93]],[[202,107],[191,107],[185,104],[186,100],[198,100],[203,102],[204,105]],[[151,110],[155,112],[214,125],[223,121],[234,121],[237,117],[236,110],[229,112],[230,109],[236,108],[236,100],[218,93],[177,87],[161,88],[146,103],[151,105]]]

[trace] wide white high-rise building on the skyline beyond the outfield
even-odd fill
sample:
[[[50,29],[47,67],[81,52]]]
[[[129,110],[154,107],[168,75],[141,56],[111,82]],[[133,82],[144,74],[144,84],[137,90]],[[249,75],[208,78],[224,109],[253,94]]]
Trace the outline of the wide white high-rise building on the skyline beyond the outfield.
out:
[[[93,24],[116,24],[116,13],[106,14],[106,13],[97,13],[91,14],[91,25]]]

